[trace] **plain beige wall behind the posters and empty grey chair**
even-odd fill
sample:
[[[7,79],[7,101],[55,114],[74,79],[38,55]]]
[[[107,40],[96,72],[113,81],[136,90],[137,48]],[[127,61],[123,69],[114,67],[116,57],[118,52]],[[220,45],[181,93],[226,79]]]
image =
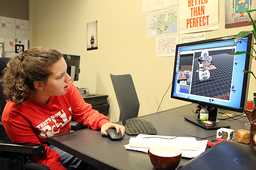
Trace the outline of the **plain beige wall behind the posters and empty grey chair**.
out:
[[[225,1],[220,1],[219,30],[206,38],[237,34],[251,26],[225,29]],[[98,20],[98,50],[86,51],[86,24]],[[147,38],[147,13],[141,0],[29,0],[30,47],[48,46],[61,53],[81,55],[75,85],[91,93],[109,95],[109,117],[117,121],[119,108],[109,74],[131,73],[140,100],[139,115],[156,112],[172,82],[174,57],[156,57],[156,38]],[[251,79],[249,97],[255,88]],[[170,99],[159,111],[188,104]]]

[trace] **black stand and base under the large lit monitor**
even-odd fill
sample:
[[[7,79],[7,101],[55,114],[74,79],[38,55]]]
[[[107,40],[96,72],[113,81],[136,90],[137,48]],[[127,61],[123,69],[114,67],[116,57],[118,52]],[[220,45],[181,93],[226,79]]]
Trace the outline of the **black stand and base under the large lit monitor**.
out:
[[[195,124],[199,127],[202,127],[206,130],[216,130],[216,129],[220,129],[221,127],[230,128],[230,125],[228,125],[226,122],[216,122],[218,108],[213,108],[213,107],[208,106],[207,110],[209,111],[209,120],[213,123],[212,126],[205,126],[201,122],[201,120],[199,120],[198,117],[185,117],[185,120],[187,120],[188,122],[191,122],[192,124]]]

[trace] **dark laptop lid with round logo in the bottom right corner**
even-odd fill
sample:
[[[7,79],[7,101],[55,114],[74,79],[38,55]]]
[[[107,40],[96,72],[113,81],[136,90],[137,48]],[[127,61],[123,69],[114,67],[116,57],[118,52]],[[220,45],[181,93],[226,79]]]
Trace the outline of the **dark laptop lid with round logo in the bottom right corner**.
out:
[[[179,169],[256,169],[256,147],[224,141]]]

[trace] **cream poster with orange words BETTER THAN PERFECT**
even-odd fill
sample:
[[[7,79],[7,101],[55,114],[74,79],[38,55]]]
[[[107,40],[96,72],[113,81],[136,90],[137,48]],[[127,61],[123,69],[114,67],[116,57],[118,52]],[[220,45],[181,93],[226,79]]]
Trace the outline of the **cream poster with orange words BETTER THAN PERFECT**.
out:
[[[219,29],[219,0],[179,0],[180,34]]]

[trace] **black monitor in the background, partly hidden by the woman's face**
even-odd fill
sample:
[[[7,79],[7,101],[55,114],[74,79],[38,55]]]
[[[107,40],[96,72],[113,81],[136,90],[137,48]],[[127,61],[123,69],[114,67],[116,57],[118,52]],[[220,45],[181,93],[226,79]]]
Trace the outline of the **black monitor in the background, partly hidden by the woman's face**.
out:
[[[71,81],[79,80],[80,73],[80,56],[79,55],[69,55],[62,54],[65,61],[67,62],[67,73],[71,77]]]

